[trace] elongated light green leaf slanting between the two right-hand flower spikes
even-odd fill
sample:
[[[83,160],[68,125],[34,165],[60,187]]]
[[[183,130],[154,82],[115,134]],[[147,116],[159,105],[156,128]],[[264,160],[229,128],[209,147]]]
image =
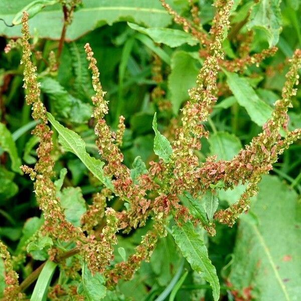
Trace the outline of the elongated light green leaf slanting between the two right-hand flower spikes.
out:
[[[225,74],[237,102],[246,109],[252,121],[262,126],[271,117],[272,108],[257,96],[245,78],[236,73],[225,71]]]

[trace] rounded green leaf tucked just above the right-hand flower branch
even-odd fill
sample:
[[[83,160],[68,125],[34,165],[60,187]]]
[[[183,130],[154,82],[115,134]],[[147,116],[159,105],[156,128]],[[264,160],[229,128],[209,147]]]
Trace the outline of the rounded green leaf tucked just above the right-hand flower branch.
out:
[[[232,160],[242,148],[239,138],[228,132],[217,132],[210,135],[211,155],[216,155],[217,160]]]

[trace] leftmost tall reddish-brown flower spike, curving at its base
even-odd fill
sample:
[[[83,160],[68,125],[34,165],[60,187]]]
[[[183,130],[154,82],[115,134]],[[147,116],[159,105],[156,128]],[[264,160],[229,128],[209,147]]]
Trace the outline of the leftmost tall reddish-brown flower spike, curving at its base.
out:
[[[32,180],[36,179],[34,184],[37,201],[45,217],[45,230],[49,231],[51,235],[60,239],[70,239],[79,232],[75,230],[74,226],[65,220],[63,210],[60,206],[59,200],[56,197],[56,190],[50,177],[53,175],[54,162],[51,158],[51,150],[53,147],[52,131],[47,125],[46,108],[40,99],[40,85],[37,81],[37,68],[31,61],[31,48],[29,44],[29,28],[28,28],[28,14],[23,13],[22,18],[22,47],[23,56],[21,63],[24,64],[24,88],[27,91],[26,101],[33,105],[32,116],[35,120],[40,119],[33,134],[40,138],[40,144],[37,148],[37,161],[35,168],[22,166],[22,170],[30,174]]]

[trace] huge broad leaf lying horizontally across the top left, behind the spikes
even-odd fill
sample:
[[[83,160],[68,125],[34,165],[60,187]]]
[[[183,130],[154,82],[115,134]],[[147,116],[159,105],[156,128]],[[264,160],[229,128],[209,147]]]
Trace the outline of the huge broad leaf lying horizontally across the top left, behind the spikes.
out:
[[[12,24],[16,14],[32,0],[2,0],[0,18]],[[172,18],[157,0],[83,0],[82,6],[74,12],[73,22],[66,32],[67,40],[75,40],[85,33],[105,24],[129,21],[147,27],[166,27]],[[45,22],[47,20],[47,22]],[[36,28],[40,38],[59,40],[64,16],[60,4],[48,6],[29,20],[31,33]],[[1,26],[0,35],[20,37],[21,25]]]

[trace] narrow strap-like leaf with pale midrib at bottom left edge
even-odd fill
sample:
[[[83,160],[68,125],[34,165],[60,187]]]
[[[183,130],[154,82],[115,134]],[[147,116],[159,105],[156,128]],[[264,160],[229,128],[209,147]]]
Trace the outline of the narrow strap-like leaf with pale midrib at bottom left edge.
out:
[[[41,274],[38,277],[34,291],[30,298],[30,301],[46,301],[48,294],[48,287],[50,285],[51,278],[54,274],[57,264],[53,261],[47,260],[44,265]]]

